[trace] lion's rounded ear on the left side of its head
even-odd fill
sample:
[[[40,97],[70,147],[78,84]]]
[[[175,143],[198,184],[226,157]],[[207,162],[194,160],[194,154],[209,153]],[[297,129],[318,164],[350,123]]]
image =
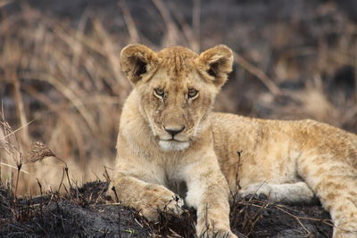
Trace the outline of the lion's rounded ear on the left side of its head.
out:
[[[134,85],[157,64],[157,56],[145,45],[128,45],[121,50],[120,65]]]

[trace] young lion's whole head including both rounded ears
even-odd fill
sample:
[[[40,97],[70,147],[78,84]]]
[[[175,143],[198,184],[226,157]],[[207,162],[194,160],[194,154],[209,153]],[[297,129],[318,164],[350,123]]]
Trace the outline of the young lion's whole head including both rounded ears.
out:
[[[224,45],[200,55],[179,46],[154,53],[144,45],[129,45],[121,52],[121,66],[162,150],[182,151],[203,129],[231,71],[232,52]]]

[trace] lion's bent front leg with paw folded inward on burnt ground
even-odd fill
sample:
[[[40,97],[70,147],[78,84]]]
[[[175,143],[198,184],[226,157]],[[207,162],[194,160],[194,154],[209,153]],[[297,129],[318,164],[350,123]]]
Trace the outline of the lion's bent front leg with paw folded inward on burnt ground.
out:
[[[179,216],[184,202],[175,193],[162,185],[154,185],[134,176],[118,175],[108,187],[108,195],[113,201],[119,200],[124,206],[137,209],[149,221],[157,221],[159,212],[164,211]]]

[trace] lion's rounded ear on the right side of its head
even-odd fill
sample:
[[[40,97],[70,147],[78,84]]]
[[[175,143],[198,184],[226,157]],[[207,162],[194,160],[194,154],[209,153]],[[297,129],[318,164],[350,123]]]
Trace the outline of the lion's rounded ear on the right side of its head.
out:
[[[217,45],[201,53],[198,62],[216,86],[223,86],[232,71],[233,52],[226,45]]]

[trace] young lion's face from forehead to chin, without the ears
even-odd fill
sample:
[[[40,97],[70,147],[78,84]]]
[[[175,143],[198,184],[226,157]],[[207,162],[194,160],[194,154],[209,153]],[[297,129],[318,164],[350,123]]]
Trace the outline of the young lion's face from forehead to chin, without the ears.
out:
[[[204,83],[199,74],[185,77],[158,70],[143,86],[137,86],[153,135],[164,150],[183,150],[199,132],[200,121],[210,110],[216,86]]]

